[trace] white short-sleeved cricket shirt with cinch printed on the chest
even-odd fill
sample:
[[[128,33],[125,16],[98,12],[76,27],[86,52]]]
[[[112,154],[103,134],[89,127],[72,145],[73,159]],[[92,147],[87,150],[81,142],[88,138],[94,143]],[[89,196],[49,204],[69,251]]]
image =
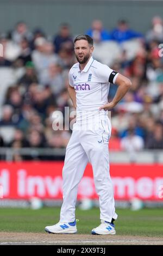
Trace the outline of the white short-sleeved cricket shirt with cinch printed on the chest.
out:
[[[77,123],[80,120],[92,119],[92,115],[98,115],[99,112],[107,114],[103,109],[99,111],[99,107],[108,102],[109,77],[112,72],[112,69],[92,57],[82,71],[79,63],[72,66],[68,78],[70,86],[76,90]],[[113,83],[117,75],[118,73],[114,76]]]

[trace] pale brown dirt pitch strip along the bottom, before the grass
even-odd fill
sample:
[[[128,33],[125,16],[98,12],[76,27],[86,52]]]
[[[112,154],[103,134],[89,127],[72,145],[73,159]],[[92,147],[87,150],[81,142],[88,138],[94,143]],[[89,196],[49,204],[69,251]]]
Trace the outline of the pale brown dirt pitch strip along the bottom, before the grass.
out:
[[[163,237],[0,232],[0,245],[163,245]]]

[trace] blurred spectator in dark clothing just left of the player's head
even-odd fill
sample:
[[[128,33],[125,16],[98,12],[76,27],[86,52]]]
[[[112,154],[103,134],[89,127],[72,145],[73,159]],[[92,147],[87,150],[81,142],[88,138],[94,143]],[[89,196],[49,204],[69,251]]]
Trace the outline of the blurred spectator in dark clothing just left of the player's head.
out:
[[[73,40],[70,33],[70,26],[64,23],[60,26],[59,33],[53,39],[55,53],[59,53],[62,47],[66,46],[73,52]]]

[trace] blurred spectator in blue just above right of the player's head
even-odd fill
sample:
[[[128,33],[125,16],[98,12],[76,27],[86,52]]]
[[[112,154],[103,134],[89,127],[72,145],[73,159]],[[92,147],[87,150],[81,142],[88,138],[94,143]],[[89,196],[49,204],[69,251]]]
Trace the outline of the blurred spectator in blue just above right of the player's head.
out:
[[[90,35],[95,42],[101,42],[110,40],[110,34],[103,28],[103,23],[101,20],[94,20],[92,22],[91,28],[86,32],[87,35]]]

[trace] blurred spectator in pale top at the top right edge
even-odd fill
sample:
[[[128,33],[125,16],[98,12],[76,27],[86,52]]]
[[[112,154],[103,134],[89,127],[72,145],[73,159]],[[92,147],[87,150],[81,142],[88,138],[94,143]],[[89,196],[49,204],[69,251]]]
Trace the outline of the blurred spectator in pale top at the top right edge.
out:
[[[153,17],[152,28],[146,34],[147,43],[153,40],[157,40],[160,43],[163,41],[163,22],[159,16]]]

